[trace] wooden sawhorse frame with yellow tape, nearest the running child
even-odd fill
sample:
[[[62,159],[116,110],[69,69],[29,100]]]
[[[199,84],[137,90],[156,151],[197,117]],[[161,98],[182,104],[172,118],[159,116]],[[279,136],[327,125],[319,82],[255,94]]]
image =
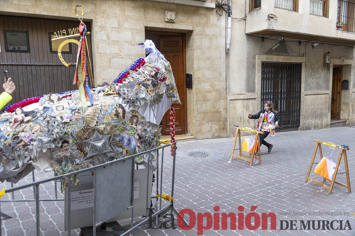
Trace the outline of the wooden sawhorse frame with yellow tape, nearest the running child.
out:
[[[263,134],[264,132],[263,132],[263,131],[258,131],[258,130],[255,130],[255,129],[250,129],[250,128],[243,128],[243,127],[239,127],[239,126],[234,126],[234,128],[237,129],[237,132],[235,133],[233,151],[232,151],[232,155],[230,156],[229,163],[231,163],[231,161],[233,161],[233,157],[237,157],[237,158],[239,158],[239,159],[243,159],[243,160],[246,160],[246,161],[250,161],[249,166],[251,167],[251,165],[253,164],[254,157],[255,157],[256,159],[259,160],[259,164],[261,164],[260,134]],[[256,135],[255,135],[255,143],[254,143],[254,146],[253,146],[253,152],[251,153],[251,158],[246,158],[246,157],[243,157],[243,156],[242,156],[242,155],[244,155],[244,156],[250,157],[249,154],[242,153],[242,147],[241,147],[241,142],[240,142],[240,132],[241,132],[241,130],[245,130],[245,131],[249,131],[249,132],[252,132],[252,133],[256,133]],[[235,151],[235,144],[237,143],[237,138],[239,138],[239,156],[236,155],[236,154],[234,154],[234,151]],[[255,155],[255,148],[256,148],[256,145],[258,145],[259,157],[254,156],[254,155]]]

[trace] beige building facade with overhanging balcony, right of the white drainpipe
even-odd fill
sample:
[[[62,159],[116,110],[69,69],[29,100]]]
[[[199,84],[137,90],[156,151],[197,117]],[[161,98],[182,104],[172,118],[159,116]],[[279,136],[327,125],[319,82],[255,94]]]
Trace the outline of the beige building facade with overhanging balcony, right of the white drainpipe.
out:
[[[338,0],[262,0],[260,5],[253,9],[248,2],[246,1],[245,9],[234,7],[236,10],[233,12],[235,18],[245,15],[246,21],[234,19],[231,27],[231,50],[226,62],[229,67],[227,73],[229,83],[226,85],[228,135],[234,135],[234,123],[255,127],[255,121],[250,121],[246,114],[261,109],[263,62],[299,63],[302,68],[299,91],[300,118],[299,125],[294,129],[354,126],[355,28],[350,19],[355,16],[355,12],[350,10],[350,7],[355,4],[349,2],[345,6]],[[294,2],[295,5],[287,5],[289,2]],[[323,3],[326,4],[323,5],[325,8],[322,8],[321,12],[316,12],[315,7],[320,9],[322,5],[314,4]],[[236,5],[236,1],[233,1],[233,4]],[[245,4],[245,1],[238,1],[238,4]],[[344,28],[341,22],[345,22],[345,25],[347,23],[348,28]],[[245,34],[238,34],[235,31],[245,31]],[[277,44],[280,36],[293,48],[295,56],[266,54],[269,48]],[[331,58],[328,64],[323,63],[325,53]],[[339,79],[340,82],[348,81],[348,89],[334,88],[333,72],[336,68],[341,68],[339,70],[342,71],[342,77]],[[334,112],[332,93],[340,93],[335,114],[332,113]],[[279,109],[283,108],[279,106]]]

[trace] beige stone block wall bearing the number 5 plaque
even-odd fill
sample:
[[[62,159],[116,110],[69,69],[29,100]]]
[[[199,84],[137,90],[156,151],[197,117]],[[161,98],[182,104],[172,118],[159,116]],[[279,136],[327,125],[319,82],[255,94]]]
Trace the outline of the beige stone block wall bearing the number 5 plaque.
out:
[[[147,0],[82,0],[85,20],[92,23],[95,84],[114,80],[144,51],[145,30],[186,33],[187,131],[197,139],[226,137],[225,18],[215,9]],[[5,15],[77,20],[71,0],[0,1]],[[79,10],[79,8],[78,8]],[[165,22],[165,11],[176,22]],[[60,30],[60,29],[59,29]]]

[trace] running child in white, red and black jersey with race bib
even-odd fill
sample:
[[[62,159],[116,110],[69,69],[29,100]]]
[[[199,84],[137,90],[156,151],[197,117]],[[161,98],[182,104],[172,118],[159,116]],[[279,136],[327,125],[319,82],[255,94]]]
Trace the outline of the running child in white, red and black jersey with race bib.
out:
[[[266,142],[264,139],[270,134],[270,136],[275,135],[275,128],[279,127],[279,116],[277,111],[273,110],[274,104],[271,101],[266,101],[263,103],[264,110],[259,111],[257,114],[249,114],[249,119],[259,119],[257,130],[264,131],[260,134],[260,143],[264,144],[268,148],[268,153],[272,151],[274,145]]]

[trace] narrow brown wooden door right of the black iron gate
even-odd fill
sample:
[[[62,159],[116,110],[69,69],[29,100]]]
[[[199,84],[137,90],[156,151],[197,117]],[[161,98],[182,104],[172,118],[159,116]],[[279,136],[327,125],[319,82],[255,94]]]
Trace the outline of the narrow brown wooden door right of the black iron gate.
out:
[[[331,102],[331,119],[340,119],[340,105],[342,102],[342,67],[333,68],[332,82],[332,102]]]

